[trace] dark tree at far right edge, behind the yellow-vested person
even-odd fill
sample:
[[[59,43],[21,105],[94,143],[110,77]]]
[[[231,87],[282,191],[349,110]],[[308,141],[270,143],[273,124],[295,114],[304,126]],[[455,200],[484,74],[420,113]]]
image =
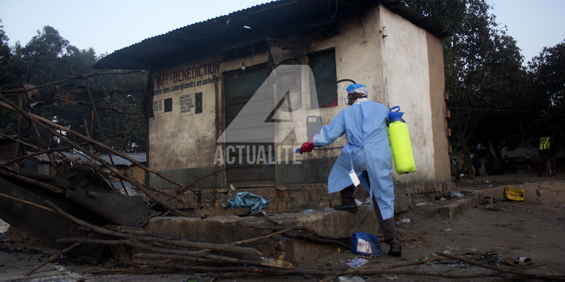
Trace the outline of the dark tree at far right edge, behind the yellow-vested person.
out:
[[[565,40],[545,47],[528,62],[530,90],[542,113],[536,118],[535,141],[551,135],[565,143]]]

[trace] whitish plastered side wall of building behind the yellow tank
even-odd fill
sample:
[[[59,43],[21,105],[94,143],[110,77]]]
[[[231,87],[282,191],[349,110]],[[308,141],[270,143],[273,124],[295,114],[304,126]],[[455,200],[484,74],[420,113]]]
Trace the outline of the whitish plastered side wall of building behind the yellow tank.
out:
[[[393,179],[400,183],[434,180],[436,168],[426,31],[382,5],[380,11],[383,35],[386,35],[381,42],[381,56],[388,107],[400,106],[400,111],[405,113],[403,118],[410,131],[416,163],[414,173],[401,176],[393,173]]]

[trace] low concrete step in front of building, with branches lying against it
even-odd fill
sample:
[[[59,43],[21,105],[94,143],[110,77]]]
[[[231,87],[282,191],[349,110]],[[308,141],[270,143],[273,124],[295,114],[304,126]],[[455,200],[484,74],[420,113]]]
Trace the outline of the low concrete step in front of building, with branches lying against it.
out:
[[[268,220],[267,220],[268,219]],[[359,207],[359,212],[296,212],[273,214],[268,217],[254,216],[210,216],[206,219],[186,217],[155,217],[145,228],[210,243],[227,244],[239,240],[256,238],[271,233],[246,225],[272,226],[296,225],[311,228],[323,235],[351,235],[354,232],[379,233],[379,223],[369,206]],[[269,257],[278,257],[287,262],[305,262],[312,255],[328,255],[337,250],[335,245],[314,243],[307,240],[292,240],[280,235],[242,246],[255,247]]]

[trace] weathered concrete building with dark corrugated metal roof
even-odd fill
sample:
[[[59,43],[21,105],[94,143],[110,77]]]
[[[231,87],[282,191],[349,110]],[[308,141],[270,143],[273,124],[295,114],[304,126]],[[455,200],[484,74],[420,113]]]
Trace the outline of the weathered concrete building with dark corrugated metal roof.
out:
[[[340,149],[294,154],[290,161],[278,159],[276,164],[258,160],[261,154],[268,160],[292,152],[331,123],[346,107],[350,82],[338,83],[343,79],[367,85],[370,100],[388,108],[400,106],[406,113],[417,170],[393,172],[396,211],[451,188],[441,45],[448,32],[400,1],[330,2],[328,6],[323,1],[281,0],[254,6],[145,39],[95,65],[150,72],[151,168],[181,183],[230,168],[198,182],[196,187],[203,192],[184,195],[184,207],[209,207],[214,185],[216,206],[225,200],[230,185],[273,200],[269,209],[338,204],[338,195],[327,195],[326,182]],[[282,114],[291,116],[292,125],[270,123],[260,134],[267,137],[254,136],[254,143],[218,142],[246,105],[258,103],[252,98],[255,94],[268,96],[266,78],[277,66],[293,71],[298,65],[309,66],[311,73],[302,71],[306,79],[298,89],[289,90],[293,106]],[[278,89],[272,96],[278,97]],[[267,123],[264,116],[273,114],[279,101],[283,100],[275,99],[266,111],[246,117],[250,123]],[[330,147],[345,142],[344,135]],[[263,152],[249,145],[262,146]],[[236,161],[216,164],[218,156]],[[242,159],[247,163],[239,164]],[[293,164],[293,159],[300,164]],[[154,175],[150,185],[177,188]]]

